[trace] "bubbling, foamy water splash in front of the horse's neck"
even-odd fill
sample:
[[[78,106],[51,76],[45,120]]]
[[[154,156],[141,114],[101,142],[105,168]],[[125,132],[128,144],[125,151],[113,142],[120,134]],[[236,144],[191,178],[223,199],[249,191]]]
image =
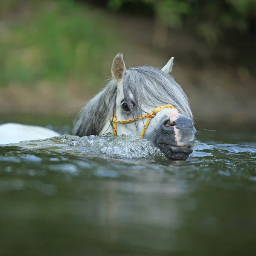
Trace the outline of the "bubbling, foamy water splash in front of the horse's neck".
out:
[[[127,159],[165,159],[159,148],[143,138],[131,135],[78,137],[62,135],[45,140],[23,141],[6,145],[28,151],[58,152],[81,156]]]

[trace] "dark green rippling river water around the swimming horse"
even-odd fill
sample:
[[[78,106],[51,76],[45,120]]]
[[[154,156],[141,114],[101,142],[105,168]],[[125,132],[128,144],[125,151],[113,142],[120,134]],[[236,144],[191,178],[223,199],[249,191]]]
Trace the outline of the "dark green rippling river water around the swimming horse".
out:
[[[125,136],[0,147],[0,256],[255,255],[256,137],[199,138],[187,161]]]

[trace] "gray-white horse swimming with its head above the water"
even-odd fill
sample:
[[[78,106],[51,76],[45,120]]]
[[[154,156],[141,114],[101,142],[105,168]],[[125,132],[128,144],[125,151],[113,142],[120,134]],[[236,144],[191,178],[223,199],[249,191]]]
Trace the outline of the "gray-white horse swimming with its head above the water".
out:
[[[189,100],[169,75],[173,60],[174,57],[162,69],[147,66],[126,69],[123,54],[118,53],[111,67],[112,78],[81,109],[74,123],[73,135],[143,137],[160,148],[169,159],[186,160],[193,151],[196,130]],[[29,140],[59,135],[43,129],[41,133],[44,135],[39,134],[35,127],[26,127],[24,131],[33,134],[34,138],[30,136]],[[12,130],[15,130],[15,124],[12,124]]]

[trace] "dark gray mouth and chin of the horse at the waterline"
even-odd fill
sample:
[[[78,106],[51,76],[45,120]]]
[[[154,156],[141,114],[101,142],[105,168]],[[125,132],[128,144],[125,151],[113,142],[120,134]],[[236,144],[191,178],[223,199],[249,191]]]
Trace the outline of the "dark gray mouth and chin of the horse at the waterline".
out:
[[[165,143],[157,144],[157,147],[160,148],[160,151],[169,159],[172,160],[187,160],[189,154],[193,152],[191,147],[178,147],[173,145],[168,145]]]

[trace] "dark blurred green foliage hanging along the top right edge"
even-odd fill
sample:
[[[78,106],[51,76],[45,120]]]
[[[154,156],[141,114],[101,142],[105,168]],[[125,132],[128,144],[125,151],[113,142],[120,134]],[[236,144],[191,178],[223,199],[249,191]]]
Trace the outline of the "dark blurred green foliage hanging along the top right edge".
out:
[[[210,45],[227,29],[249,29],[250,18],[256,17],[256,0],[108,0],[108,7],[118,11],[128,2],[151,5],[163,26],[188,25]]]

